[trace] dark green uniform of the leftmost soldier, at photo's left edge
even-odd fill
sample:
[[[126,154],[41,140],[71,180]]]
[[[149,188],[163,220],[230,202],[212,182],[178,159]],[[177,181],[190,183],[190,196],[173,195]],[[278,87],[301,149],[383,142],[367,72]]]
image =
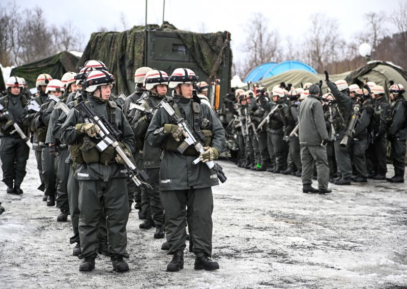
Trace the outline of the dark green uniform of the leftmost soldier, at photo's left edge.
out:
[[[0,98],[0,103],[9,110],[22,131],[27,134],[27,128],[30,123],[25,123],[24,126],[21,119],[23,108],[27,103],[24,96],[21,93],[17,96],[8,93]],[[0,126],[3,127],[4,124],[5,122],[2,122]],[[8,187],[13,187],[13,182],[15,186],[19,187],[26,174],[25,166],[30,154],[30,148],[17,132],[11,134],[13,130],[13,126],[10,126],[7,130],[1,129],[0,159],[2,160],[3,169],[2,181]]]

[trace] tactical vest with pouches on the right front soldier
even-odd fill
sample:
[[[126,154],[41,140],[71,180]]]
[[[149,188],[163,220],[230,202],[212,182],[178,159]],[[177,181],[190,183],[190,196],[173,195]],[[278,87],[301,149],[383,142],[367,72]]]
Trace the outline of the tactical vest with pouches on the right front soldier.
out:
[[[176,104],[172,98],[168,98],[171,107],[175,110],[175,113],[179,118],[183,118],[180,107]],[[206,127],[202,127],[202,122],[200,118],[200,104],[198,102],[192,102],[192,111],[194,114],[194,125],[192,127],[193,131],[196,135],[201,135],[202,139],[198,139],[202,141],[202,145],[204,147],[209,147],[212,142],[212,131],[209,129],[211,124],[207,124]],[[202,128],[202,129],[201,129]],[[176,152],[177,148],[181,145],[182,141],[176,141],[172,136],[167,135],[165,141],[163,142],[164,145],[162,149],[167,151]],[[198,156],[199,153],[195,150],[194,146],[189,146],[183,153],[185,156]]]

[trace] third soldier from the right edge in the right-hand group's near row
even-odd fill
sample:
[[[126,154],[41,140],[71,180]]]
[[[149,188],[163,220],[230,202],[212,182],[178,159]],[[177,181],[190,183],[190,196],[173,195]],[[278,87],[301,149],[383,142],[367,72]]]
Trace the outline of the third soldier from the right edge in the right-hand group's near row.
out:
[[[355,127],[355,132],[352,139],[352,159],[355,165],[354,175],[351,180],[356,183],[367,182],[367,166],[366,166],[366,149],[369,143],[370,135],[370,123],[373,116],[373,108],[368,102],[370,97],[369,92],[366,89],[359,89],[356,92],[357,103],[360,105],[359,121]]]

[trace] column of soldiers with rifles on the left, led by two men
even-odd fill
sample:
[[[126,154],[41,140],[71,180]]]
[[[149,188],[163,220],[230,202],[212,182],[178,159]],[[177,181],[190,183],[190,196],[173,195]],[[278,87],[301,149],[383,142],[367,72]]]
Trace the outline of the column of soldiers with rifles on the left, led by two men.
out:
[[[195,269],[219,269],[211,259],[211,187],[226,180],[214,162],[226,141],[208,105],[208,84],[184,68],[168,76],[140,67],[134,81],[127,98],[112,94],[114,77],[96,60],[61,80],[40,74],[34,96],[21,78],[10,77],[0,98],[7,193],[23,194],[32,146],[42,200],[61,210],[57,221],[71,217],[79,271],[92,271],[98,253],[111,257],[115,271],[129,270],[123,258],[134,202],[140,229],[155,227],[152,237],[166,238],[161,249],[173,255],[167,271],[184,267],[187,239]]]

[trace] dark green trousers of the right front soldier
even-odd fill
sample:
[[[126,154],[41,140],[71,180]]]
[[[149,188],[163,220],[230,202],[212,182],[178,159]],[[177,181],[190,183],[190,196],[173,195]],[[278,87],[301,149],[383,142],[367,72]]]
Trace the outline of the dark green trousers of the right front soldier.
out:
[[[170,246],[167,254],[184,250],[186,245],[186,215],[188,232],[193,242],[193,252],[205,252],[212,256],[212,212],[211,187],[187,190],[160,191],[165,210],[165,233]]]

